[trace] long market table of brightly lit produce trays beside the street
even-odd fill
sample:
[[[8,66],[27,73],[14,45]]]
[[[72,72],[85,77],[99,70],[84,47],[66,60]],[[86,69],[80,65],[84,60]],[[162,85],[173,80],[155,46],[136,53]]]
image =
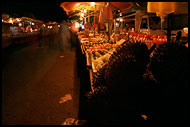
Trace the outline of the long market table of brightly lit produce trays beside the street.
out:
[[[121,39],[120,41],[115,42],[115,44],[110,44],[110,42],[107,41],[107,38],[103,38],[103,35],[96,35],[96,36],[81,36],[81,34],[84,34],[84,32],[78,33],[78,39],[80,43],[81,52],[86,57],[86,67],[89,70],[89,76],[90,76],[90,85],[91,90],[94,92],[93,87],[93,74],[98,71],[100,67],[97,67],[98,65],[101,65],[101,60],[99,58],[107,56],[111,56],[111,54],[115,51],[115,45],[121,45],[123,42],[125,42],[125,39]],[[101,42],[102,43],[99,43]],[[90,45],[90,46],[89,46]],[[94,46],[94,47],[93,47]],[[110,47],[110,48],[108,48]],[[105,54],[101,54],[100,56],[93,58],[93,52],[97,51],[105,51]],[[100,61],[99,61],[100,60]],[[97,64],[98,63],[98,64]],[[103,66],[103,65],[102,65]]]

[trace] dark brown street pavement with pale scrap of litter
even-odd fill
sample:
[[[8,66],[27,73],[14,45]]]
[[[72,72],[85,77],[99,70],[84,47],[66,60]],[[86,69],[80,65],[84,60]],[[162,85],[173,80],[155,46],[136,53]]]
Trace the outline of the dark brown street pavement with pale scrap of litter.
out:
[[[3,125],[61,125],[78,118],[75,49],[62,52],[50,39],[41,42],[40,47],[17,46],[4,55]]]

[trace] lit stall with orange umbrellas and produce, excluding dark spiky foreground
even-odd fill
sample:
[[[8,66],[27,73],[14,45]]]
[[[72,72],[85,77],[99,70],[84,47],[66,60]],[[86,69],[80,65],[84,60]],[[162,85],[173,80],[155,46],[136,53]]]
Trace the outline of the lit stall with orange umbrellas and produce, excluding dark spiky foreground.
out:
[[[126,42],[145,43],[152,52],[158,45],[176,41],[180,31],[180,37],[186,38],[183,42],[188,47],[187,2],[144,2],[144,5],[137,2],[63,2],[60,6],[75,19],[92,91],[93,75]],[[170,28],[171,14],[183,15],[181,20],[184,21],[180,28],[173,31]],[[173,21],[173,24],[179,22]]]

